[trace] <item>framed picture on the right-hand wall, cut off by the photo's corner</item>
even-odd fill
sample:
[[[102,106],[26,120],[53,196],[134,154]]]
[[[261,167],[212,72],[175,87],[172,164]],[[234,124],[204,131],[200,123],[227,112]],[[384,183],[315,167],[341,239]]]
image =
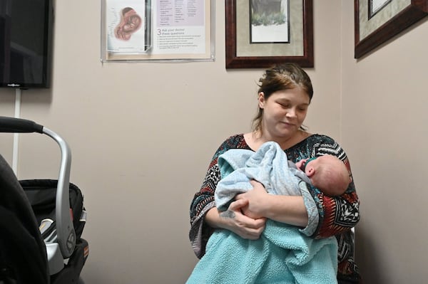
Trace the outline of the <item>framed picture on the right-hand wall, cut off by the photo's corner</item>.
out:
[[[354,0],[355,58],[377,46],[428,14],[428,0]]]

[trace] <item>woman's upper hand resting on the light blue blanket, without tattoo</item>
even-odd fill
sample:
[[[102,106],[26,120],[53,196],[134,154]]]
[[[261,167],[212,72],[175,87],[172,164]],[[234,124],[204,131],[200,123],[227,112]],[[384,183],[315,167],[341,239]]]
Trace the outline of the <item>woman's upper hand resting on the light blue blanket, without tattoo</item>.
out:
[[[253,219],[260,219],[265,217],[268,208],[267,199],[269,198],[269,194],[267,194],[265,186],[260,184],[260,182],[252,180],[250,183],[253,189],[243,194],[238,194],[235,196],[235,199],[247,201],[247,205],[243,206],[241,209],[245,216]]]

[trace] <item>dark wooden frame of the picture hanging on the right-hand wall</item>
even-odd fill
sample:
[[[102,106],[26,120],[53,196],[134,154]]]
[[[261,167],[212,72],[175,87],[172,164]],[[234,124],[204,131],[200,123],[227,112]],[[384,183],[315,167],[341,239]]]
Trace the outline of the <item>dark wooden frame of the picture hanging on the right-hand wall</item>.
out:
[[[399,14],[393,16],[360,41],[360,1],[367,0],[354,0],[355,58],[364,56],[428,15],[428,0],[412,0],[411,4]]]

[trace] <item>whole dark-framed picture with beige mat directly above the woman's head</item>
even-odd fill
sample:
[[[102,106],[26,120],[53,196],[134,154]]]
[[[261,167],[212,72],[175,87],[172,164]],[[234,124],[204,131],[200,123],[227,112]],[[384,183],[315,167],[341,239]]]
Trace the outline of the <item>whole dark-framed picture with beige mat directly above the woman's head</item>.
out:
[[[312,0],[225,0],[226,68],[314,66]]]

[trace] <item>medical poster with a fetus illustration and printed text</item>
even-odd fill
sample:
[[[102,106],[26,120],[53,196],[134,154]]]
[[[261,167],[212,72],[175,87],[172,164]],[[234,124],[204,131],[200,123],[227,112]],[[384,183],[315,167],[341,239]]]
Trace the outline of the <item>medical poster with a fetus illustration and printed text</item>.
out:
[[[210,0],[101,0],[101,61],[213,61]]]

